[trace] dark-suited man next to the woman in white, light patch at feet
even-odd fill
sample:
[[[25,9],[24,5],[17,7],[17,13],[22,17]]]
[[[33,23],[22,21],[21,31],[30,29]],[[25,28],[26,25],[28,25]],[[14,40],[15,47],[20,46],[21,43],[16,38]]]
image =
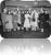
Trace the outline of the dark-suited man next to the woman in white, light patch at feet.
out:
[[[43,32],[44,30],[44,18],[46,18],[46,13],[44,11],[42,11],[40,14],[39,14],[39,28],[41,30],[41,32]]]

